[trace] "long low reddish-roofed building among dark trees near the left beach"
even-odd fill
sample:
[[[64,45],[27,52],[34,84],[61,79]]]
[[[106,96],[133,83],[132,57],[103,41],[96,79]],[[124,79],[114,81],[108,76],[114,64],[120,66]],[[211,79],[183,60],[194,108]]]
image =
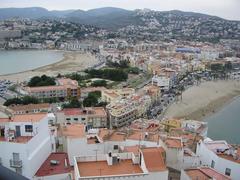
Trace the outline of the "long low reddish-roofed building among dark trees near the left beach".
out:
[[[44,98],[80,98],[80,87],[75,80],[61,78],[56,80],[55,86],[26,87],[28,95]]]

